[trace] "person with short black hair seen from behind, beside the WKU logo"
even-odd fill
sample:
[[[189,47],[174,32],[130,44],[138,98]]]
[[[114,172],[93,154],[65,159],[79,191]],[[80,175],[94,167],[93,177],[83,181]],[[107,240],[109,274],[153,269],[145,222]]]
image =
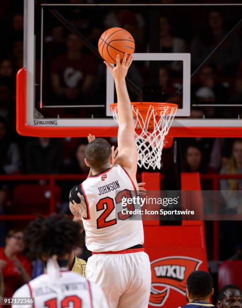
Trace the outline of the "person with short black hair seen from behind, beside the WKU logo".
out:
[[[194,271],[187,279],[187,298],[189,303],[179,308],[215,307],[210,304],[213,295],[213,278],[205,271]]]

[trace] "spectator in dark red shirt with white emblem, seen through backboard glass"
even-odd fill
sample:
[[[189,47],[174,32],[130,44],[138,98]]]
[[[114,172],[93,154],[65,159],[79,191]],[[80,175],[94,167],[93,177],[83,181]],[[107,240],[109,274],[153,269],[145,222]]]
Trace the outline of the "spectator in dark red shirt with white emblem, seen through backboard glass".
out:
[[[67,53],[59,55],[51,65],[51,83],[54,95],[65,102],[81,104],[81,99],[91,100],[91,89],[96,71],[96,58],[82,54],[79,37],[67,38]]]

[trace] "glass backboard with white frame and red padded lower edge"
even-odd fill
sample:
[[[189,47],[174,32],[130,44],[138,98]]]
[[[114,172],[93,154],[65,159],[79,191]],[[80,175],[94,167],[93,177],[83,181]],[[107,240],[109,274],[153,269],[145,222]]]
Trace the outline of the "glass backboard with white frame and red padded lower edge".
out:
[[[49,137],[117,135],[110,111],[116,101],[113,79],[95,48],[100,34],[119,22],[133,31],[136,40],[137,52],[128,75],[135,85],[128,84],[131,100],[153,98],[178,104],[169,136],[241,136],[242,104],[239,95],[231,95],[236,90],[234,76],[239,75],[241,56],[237,56],[233,69],[219,70],[217,64],[219,52],[229,52],[231,40],[236,48],[237,34],[234,31],[230,41],[221,46],[213,63],[209,60],[213,49],[202,54],[198,44],[199,28],[214,27],[225,9],[228,30],[224,30],[217,45],[239,22],[241,6],[216,4],[198,8],[193,4],[117,5],[96,1],[67,5],[25,0],[24,67],[17,74],[18,132]],[[170,46],[169,39],[173,41]],[[203,64],[206,58],[207,64]],[[86,90],[88,81],[91,86]]]

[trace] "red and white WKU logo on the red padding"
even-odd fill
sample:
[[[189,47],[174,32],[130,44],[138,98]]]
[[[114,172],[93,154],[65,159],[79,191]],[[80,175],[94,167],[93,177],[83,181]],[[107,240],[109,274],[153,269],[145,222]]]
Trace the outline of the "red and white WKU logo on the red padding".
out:
[[[151,292],[149,304],[163,306],[170,289],[186,295],[186,281],[191,272],[197,270],[202,261],[181,256],[154,260],[151,265]]]

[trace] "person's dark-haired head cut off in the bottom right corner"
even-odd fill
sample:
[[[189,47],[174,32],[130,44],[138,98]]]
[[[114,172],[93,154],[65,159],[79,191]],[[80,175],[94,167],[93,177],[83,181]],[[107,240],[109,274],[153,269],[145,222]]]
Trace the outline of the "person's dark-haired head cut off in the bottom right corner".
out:
[[[217,301],[218,308],[241,308],[242,291],[234,284],[227,284],[221,288]]]

